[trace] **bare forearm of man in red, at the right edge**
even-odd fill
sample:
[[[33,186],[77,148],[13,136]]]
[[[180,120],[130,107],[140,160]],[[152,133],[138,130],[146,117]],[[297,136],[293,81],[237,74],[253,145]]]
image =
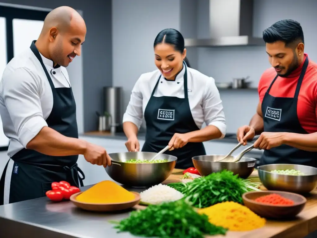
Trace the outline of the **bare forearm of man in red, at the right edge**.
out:
[[[311,134],[297,134],[285,132],[283,144],[306,151],[317,151],[317,132]]]

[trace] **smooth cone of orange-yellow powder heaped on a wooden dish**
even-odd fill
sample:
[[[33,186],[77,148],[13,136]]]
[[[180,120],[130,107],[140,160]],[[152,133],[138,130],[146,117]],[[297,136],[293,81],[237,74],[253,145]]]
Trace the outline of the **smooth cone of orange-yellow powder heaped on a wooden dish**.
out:
[[[95,184],[76,197],[76,200],[79,202],[102,204],[130,202],[134,199],[135,196],[133,193],[109,180]]]

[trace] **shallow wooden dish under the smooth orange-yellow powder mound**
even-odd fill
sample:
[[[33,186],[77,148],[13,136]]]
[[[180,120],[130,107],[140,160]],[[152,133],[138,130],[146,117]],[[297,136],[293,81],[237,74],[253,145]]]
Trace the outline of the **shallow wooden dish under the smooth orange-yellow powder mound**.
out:
[[[137,192],[131,192],[135,195],[135,199],[130,202],[122,203],[88,203],[88,202],[79,202],[76,200],[76,197],[82,192],[75,193],[70,196],[70,201],[74,203],[76,207],[87,211],[96,211],[96,212],[111,212],[111,211],[120,211],[132,208],[133,206],[139,204],[141,197]]]

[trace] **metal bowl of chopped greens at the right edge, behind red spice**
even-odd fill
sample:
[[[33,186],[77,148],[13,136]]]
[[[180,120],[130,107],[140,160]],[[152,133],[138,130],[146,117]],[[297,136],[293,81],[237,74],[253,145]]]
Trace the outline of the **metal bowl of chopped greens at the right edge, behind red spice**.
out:
[[[317,168],[298,164],[267,164],[258,168],[259,178],[268,190],[309,193],[317,187]],[[281,175],[272,170],[296,169],[305,175]]]

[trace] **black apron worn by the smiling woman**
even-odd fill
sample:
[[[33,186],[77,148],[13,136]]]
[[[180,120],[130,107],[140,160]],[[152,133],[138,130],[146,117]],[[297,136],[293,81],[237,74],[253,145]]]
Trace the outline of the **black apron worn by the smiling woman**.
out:
[[[187,66],[184,74],[184,98],[161,96],[154,97],[161,75],[152,91],[144,111],[146,121],[146,136],[142,151],[159,152],[164,149],[175,133],[184,134],[199,130],[192,115],[188,101]],[[206,155],[203,142],[188,142],[184,147],[167,150],[165,154],[177,157],[175,168],[187,169],[193,167],[191,158]]]

